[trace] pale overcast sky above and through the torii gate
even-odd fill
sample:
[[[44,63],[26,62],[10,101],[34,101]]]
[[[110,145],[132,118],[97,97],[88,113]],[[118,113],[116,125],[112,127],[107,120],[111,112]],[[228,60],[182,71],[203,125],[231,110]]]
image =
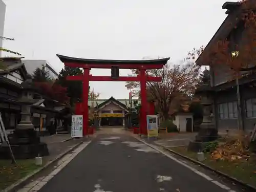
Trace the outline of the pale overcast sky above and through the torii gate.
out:
[[[223,20],[224,0],[3,0],[6,4],[4,47],[26,59],[56,57],[97,59],[183,59],[194,47],[207,45]],[[3,53],[4,56],[4,53]],[[129,70],[121,70],[126,76]],[[110,75],[110,70],[91,70]],[[90,82],[100,98],[128,98],[124,82]]]

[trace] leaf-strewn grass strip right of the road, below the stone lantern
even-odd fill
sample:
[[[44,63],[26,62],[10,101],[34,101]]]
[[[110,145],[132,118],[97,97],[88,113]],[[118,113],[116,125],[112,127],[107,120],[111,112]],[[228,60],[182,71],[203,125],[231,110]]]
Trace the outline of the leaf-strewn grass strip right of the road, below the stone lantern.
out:
[[[196,153],[188,152],[186,147],[169,148],[186,157],[197,160]],[[206,154],[205,157],[206,159],[202,162],[203,164],[256,187],[256,155],[251,156],[248,161],[241,162],[216,161],[211,159],[209,154]]]

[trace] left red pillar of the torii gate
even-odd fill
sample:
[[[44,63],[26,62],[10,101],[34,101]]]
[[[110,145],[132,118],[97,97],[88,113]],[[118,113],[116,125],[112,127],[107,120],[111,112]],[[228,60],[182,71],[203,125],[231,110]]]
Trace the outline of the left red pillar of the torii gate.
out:
[[[89,75],[90,69],[83,68],[83,82],[82,82],[82,104],[83,104],[83,136],[88,135],[88,95],[89,95]]]

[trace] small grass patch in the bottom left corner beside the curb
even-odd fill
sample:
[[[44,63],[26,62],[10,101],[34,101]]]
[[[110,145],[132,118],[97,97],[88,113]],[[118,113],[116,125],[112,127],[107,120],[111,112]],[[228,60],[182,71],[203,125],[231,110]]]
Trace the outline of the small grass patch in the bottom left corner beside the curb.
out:
[[[27,176],[33,170],[39,168],[34,159],[16,160],[17,166],[11,164],[11,160],[0,160],[0,190],[8,187],[17,180]]]

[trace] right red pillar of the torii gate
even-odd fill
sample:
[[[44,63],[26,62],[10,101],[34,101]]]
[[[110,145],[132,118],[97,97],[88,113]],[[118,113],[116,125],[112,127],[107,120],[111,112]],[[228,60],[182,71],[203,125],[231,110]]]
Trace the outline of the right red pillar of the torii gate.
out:
[[[147,135],[146,127],[146,76],[145,69],[140,70],[140,97],[141,97],[141,109],[140,109],[140,134]]]

